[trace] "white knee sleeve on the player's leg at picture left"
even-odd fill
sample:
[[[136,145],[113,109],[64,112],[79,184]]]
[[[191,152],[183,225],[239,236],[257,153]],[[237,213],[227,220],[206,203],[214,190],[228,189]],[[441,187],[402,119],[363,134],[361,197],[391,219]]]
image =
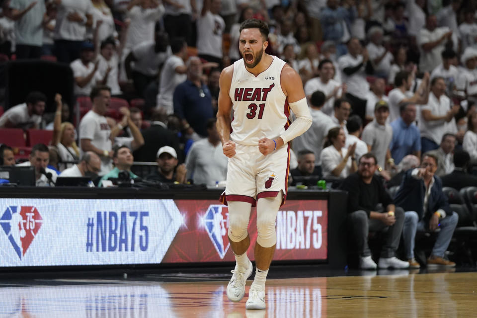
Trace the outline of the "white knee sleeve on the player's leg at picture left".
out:
[[[247,228],[252,205],[248,202],[229,201],[229,239],[233,242],[248,236]]]

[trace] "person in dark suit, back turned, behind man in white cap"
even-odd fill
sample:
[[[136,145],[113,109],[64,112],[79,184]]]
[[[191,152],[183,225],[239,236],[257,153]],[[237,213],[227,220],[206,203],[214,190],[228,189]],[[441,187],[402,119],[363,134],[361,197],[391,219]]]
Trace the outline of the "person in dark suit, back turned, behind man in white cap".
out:
[[[179,151],[179,137],[167,129],[167,115],[163,110],[156,110],[152,117],[151,127],[143,130],[144,146],[134,152],[137,161],[155,162],[159,148],[170,146],[177,153],[179,162],[183,162]]]

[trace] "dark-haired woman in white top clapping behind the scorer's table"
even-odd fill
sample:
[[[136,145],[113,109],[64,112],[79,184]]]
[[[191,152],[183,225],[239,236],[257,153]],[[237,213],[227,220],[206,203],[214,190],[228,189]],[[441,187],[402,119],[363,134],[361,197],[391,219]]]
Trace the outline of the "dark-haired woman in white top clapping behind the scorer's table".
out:
[[[354,151],[356,143],[344,148],[346,135],[340,127],[331,128],[328,132],[324,149],[321,151],[321,169],[323,177],[346,178],[350,173],[356,172],[358,166]]]

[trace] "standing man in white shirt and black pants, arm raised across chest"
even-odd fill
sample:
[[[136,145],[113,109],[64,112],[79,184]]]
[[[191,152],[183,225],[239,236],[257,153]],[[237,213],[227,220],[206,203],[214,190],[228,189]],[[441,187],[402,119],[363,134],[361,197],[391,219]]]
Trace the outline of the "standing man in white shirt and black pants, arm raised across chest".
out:
[[[353,108],[353,113],[362,119],[366,114],[366,93],[369,90],[366,69],[372,69],[368,62],[368,50],[361,46],[357,38],[348,41],[348,54],[338,60],[343,83],[347,86],[346,98]]]

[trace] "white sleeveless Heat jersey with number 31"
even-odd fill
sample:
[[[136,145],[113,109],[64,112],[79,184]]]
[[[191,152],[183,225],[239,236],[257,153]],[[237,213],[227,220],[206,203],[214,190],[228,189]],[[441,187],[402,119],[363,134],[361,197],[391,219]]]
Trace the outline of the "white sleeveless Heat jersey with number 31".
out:
[[[285,62],[273,58],[270,67],[257,77],[245,69],[243,59],[234,63],[229,95],[233,102],[231,139],[256,146],[264,137],[276,138],[290,125],[290,107],[280,85]]]

